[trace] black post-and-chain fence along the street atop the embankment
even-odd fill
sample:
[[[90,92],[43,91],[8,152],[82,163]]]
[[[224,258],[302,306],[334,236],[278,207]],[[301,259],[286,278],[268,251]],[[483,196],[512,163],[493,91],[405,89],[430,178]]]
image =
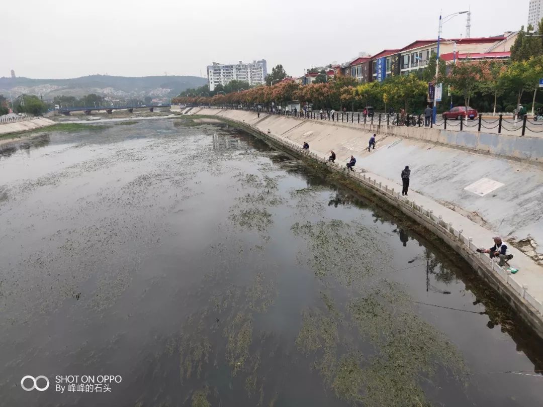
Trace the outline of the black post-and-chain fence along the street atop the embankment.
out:
[[[285,110],[275,109],[270,107],[255,107],[255,106],[206,106],[211,109],[228,109],[228,110],[243,110],[252,111],[257,114],[263,113],[266,115],[288,116],[301,119],[311,120],[326,120],[334,123],[357,123],[371,125],[387,125],[387,126],[414,126],[428,127],[444,130],[459,130],[459,131],[483,131],[502,133],[503,131],[521,133],[522,136],[526,133],[541,133],[543,128],[543,120],[529,120],[525,115],[522,118],[515,119],[514,117],[506,118],[503,115],[499,117],[483,117],[477,116],[473,119],[466,119],[463,116],[460,118],[449,119],[446,116],[438,117],[435,123],[431,119],[425,118],[422,115],[399,113],[373,113],[366,114],[359,112],[336,112],[336,111],[318,111],[318,110]]]

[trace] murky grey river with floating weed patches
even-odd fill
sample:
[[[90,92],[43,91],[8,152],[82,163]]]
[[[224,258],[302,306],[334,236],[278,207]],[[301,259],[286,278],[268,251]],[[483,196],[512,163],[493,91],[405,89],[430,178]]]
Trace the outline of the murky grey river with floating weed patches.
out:
[[[543,404],[540,342],[452,250],[187,124],[0,146],[0,405]]]

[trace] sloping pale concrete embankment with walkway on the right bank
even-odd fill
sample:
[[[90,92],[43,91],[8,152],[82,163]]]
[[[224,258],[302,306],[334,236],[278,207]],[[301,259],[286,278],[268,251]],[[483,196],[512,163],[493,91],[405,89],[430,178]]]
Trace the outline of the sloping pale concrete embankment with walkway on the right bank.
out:
[[[443,239],[543,338],[543,256],[532,245],[531,257],[510,246],[514,255],[510,263],[520,269],[513,275],[490,262],[488,255],[474,254],[477,247],[493,245],[496,231],[517,240],[537,236],[543,241],[543,171],[539,165],[378,132],[377,148],[368,152],[371,132],[367,129],[283,116],[261,114],[257,118],[255,113],[238,110],[193,109],[191,113],[231,120],[294,151],[307,141],[311,157],[323,166],[344,172]],[[340,164],[325,162],[332,149]],[[364,173],[345,172],[344,163],[351,154]],[[398,181],[406,164],[412,168],[415,192],[403,197]]]

